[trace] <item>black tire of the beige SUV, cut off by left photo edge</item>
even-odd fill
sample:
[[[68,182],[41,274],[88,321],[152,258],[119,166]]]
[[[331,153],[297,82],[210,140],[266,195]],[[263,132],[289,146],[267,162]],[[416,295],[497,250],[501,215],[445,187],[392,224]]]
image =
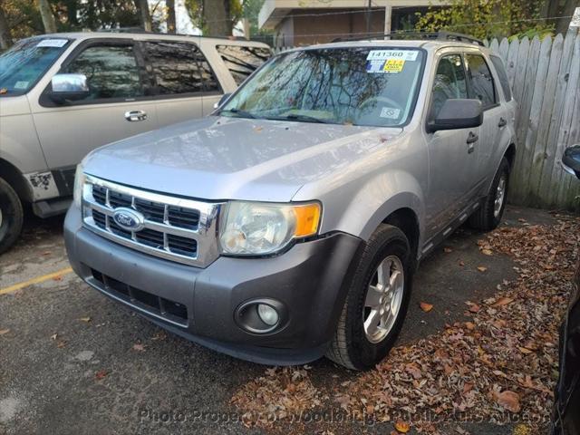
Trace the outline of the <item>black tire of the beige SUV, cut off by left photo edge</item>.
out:
[[[4,179],[0,179],[0,213],[0,254],[3,254],[20,236],[24,218],[20,198]]]

